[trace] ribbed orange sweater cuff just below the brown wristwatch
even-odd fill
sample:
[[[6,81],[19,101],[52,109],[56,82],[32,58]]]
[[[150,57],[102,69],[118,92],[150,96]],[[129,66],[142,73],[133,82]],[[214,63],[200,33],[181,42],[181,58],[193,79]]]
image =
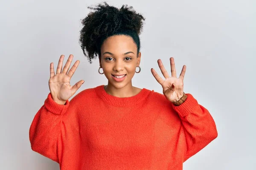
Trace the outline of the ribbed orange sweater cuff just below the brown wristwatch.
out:
[[[189,113],[192,113],[196,107],[198,107],[197,100],[192,96],[192,94],[186,94],[187,98],[185,102],[181,105],[174,105],[172,103],[172,108],[179,114],[179,116],[187,116]]]

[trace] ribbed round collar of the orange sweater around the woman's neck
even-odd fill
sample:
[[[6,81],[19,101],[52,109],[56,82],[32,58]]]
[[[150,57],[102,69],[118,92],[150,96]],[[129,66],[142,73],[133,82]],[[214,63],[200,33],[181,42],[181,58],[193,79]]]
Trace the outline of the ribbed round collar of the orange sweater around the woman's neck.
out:
[[[110,105],[115,106],[129,106],[134,105],[139,102],[142,102],[150,93],[151,91],[143,88],[140,93],[136,94],[135,96],[131,97],[116,97],[108,94],[105,91],[104,85],[99,85],[96,88],[94,88],[96,91],[96,94],[101,98],[103,101],[107,102]]]

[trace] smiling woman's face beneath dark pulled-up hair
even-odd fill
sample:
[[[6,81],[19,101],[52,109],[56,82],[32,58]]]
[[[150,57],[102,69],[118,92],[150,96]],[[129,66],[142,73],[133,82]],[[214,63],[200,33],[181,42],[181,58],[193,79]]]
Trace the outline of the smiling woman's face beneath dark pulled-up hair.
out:
[[[131,37],[114,35],[103,42],[99,65],[108,83],[116,88],[122,88],[131,84],[136,66],[140,65],[140,56],[141,53],[137,57],[137,45]]]

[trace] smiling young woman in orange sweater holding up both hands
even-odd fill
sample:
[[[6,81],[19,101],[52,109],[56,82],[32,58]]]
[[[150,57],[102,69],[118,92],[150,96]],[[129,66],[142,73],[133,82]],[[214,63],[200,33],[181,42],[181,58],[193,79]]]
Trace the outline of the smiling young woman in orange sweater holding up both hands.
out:
[[[69,101],[84,83],[70,85],[79,61],[69,70],[70,55],[62,68],[61,55],[56,74],[51,63],[50,93],[29,130],[32,150],[62,170],[182,170],[184,161],[218,135],[209,111],[183,92],[186,66],[177,78],[173,58],[171,76],[158,60],[164,79],[151,73],[163,94],[132,86],[141,69],[144,18],[128,6],[93,9],[82,20],[80,43],[90,63],[99,58],[108,85],[85,89]]]

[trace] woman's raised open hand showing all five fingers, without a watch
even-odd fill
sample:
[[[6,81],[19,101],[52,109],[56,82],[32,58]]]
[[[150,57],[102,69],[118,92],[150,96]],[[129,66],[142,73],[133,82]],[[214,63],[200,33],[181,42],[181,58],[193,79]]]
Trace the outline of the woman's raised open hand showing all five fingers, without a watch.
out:
[[[53,62],[50,64],[49,89],[52,94],[52,99],[60,105],[64,105],[67,99],[73,96],[73,94],[75,94],[76,91],[84,83],[84,80],[80,80],[75,85],[73,86],[70,85],[70,79],[75,73],[76,68],[79,65],[79,60],[77,60],[72,66],[72,68],[70,69],[70,71],[68,71],[68,69],[70,68],[72,59],[73,59],[73,55],[70,54],[62,70],[64,55],[61,55],[58,62],[56,74],[54,73]]]

